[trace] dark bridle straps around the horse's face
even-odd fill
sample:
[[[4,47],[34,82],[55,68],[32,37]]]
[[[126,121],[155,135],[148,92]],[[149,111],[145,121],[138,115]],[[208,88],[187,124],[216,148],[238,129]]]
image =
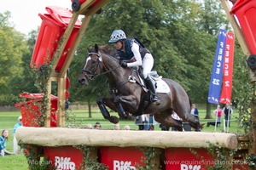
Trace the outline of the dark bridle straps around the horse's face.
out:
[[[102,62],[102,56],[100,54],[97,53],[89,53],[88,57],[90,57],[91,55],[95,54],[98,58],[96,59],[96,62],[93,63],[93,68],[91,71],[87,71],[85,69],[82,70],[82,73],[84,74],[85,77],[88,77],[90,80],[93,79],[94,77],[98,76],[96,71],[100,65],[100,63]],[[91,57],[90,57],[91,58]]]

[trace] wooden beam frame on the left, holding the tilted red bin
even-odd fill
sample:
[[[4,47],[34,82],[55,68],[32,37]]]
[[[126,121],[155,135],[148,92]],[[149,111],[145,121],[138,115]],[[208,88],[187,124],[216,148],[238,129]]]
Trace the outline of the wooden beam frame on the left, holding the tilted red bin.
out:
[[[86,0],[83,4],[81,4],[81,7],[79,11],[73,12],[72,19],[70,20],[66,31],[64,32],[61,42],[58,44],[58,47],[55,51],[55,54],[53,56],[53,60],[55,61],[52,67],[51,76],[49,77],[48,82],[48,94],[47,97],[49,99],[49,105],[50,105],[50,94],[51,94],[51,82],[55,81],[58,82],[58,111],[57,111],[57,126],[63,127],[65,125],[65,119],[64,119],[64,113],[65,113],[65,87],[66,87],[66,78],[67,78],[67,69],[70,65],[73,55],[75,54],[76,49],[79,46],[79,42],[82,39],[82,36],[84,35],[84,31],[86,30],[90,18],[92,14],[95,14],[102,6],[104,6],[106,3],[108,3],[109,0],[101,0],[98,3],[96,3],[95,6],[90,7],[91,4],[95,3],[96,0]],[[76,20],[79,18],[79,14],[84,14],[84,20],[82,25],[79,28],[79,32],[77,36],[75,37],[72,47],[69,49],[67,54],[67,59],[64,61],[64,64],[61,67],[60,72],[55,71],[55,67],[58,64],[59,59],[61,58],[61,54],[67,44],[67,40],[70,37],[73,27],[75,26]],[[50,127],[50,111],[46,114],[46,120],[44,123],[44,127]]]

